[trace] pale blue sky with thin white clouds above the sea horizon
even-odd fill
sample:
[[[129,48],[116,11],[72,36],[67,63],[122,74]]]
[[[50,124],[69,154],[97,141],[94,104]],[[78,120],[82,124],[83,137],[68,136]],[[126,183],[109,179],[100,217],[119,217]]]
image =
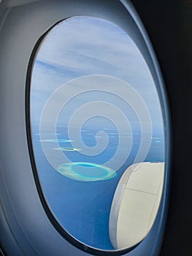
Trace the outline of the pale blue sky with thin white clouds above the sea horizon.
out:
[[[64,126],[88,102],[93,103],[88,108],[93,116],[97,116],[96,108],[99,107],[94,102],[99,101],[115,105],[131,124],[139,124],[142,113],[138,116],[135,105],[131,105],[133,95],[137,97],[137,105],[149,112],[153,129],[162,129],[161,108],[153,78],[128,34],[107,20],[85,16],[69,18],[47,34],[34,59],[31,124],[39,125],[47,100],[52,100],[50,111],[53,113],[58,102],[61,105],[66,102],[58,113],[58,124]],[[45,122],[49,121],[48,117],[45,119]],[[91,123],[92,126],[96,124],[97,121]]]

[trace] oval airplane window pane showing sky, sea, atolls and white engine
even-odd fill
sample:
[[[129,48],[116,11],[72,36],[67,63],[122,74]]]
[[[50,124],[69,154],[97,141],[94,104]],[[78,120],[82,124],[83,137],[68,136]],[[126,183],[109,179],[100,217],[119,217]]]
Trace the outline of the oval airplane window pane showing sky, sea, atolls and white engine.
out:
[[[56,24],[34,56],[30,114],[39,184],[64,232],[99,250],[142,241],[164,185],[164,120],[131,37],[89,16]]]

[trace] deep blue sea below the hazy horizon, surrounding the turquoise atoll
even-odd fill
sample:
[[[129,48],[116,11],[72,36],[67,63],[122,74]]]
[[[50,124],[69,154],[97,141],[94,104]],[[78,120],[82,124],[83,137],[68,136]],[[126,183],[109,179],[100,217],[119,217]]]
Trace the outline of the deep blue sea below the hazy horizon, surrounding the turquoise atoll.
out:
[[[119,139],[117,131],[107,130],[109,134],[107,149],[103,154],[88,157],[80,154],[80,151],[78,151],[80,148],[72,150],[67,129],[58,127],[56,132],[58,141],[60,141],[59,146],[67,149],[63,153],[72,162],[89,162],[102,165],[107,158],[110,159],[115,154]],[[93,129],[82,130],[82,141],[87,146],[94,146],[96,132]],[[109,237],[112,198],[123,172],[134,163],[141,140],[139,131],[133,132],[131,154],[129,154],[123,166],[115,173],[115,176],[99,181],[83,181],[83,176],[82,180],[75,180],[61,175],[50,165],[42,151],[39,127],[32,127],[32,138],[40,184],[47,204],[55,218],[71,236],[82,243],[99,249],[113,249]],[[151,146],[145,162],[163,161],[164,135],[162,132],[155,131],[151,138]]]

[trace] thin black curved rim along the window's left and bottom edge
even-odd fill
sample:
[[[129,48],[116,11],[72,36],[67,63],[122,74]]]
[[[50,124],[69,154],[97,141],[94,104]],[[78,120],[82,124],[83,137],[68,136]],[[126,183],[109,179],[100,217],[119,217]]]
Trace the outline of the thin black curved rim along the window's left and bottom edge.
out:
[[[135,14],[135,15],[137,15],[137,14]],[[77,15],[75,15],[75,16],[77,17]],[[72,17],[75,17],[75,16],[70,16],[68,18],[65,18],[64,20],[68,20],[69,18],[72,18]],[[98,18],[98,17],[94,16],[94,18]],[[139,17],[137,17],[137,18],[139,18]],[[26,114],[26,120],[27,120],[27,124],[29,124],[28,128],[27,128],[27,132],[30,130],[30,134],[28,134],[28,141],[29,141],[28,144],[30,144],[30,145],[32,145],[32,138],[31,138],[32,137],[31,136],[32,132],[31,132],[31,121],[30,121],[30,118],[28,118],[30,116],[30,111],[28,111],[28,110],[30,110],[30,102],[31,102],[31,99],[30,99],[30,95],[31,95],[30,88],[31,88],[31,86],[30,86],[30,84],[31,84],[31,73],[33,71],[33,66],[34,66],[34,60],[36,59],[38,50],[41,48],[42,42],[45,39],[45,37],[47,36],[47,34],[49,34],[49,32],[55,26],[57,26],[59,23],[63,22],[64,20],[59,20],[57,23],[55,23],[53,26],[51,26],[50,29],[45,31],[44,34],[42,34],[42,37],[39,38],[37,44],[34,47],[33,52],[31,53],[31,58],[30,58],[30,61],[29,61],[29,64],[28,64],[28,73],[27,73],[27,80],[26,80],[26,85],[28,85],[28,92],[26,91],[27,92],[26,93],[26,102],[28,102],[28,108],[26,108],[26,113],[28,113],[28,115]],[[117,23],[115,23],[115,24],[117,25]],[[142,24],[140,24],[140,25],[142,26]],[[122,27],[120,27],[120,29],[122,29]],[[128,34],[128,35],[130,36],[130,34]],[[146,36],[146,34],[145,34],[145,36]],[[148,44],[150,45],[150,42],[148,42]],[[138,47],[138,45],[137,45],[137,47]],[[141,50],[141,49],[139,48],[139,50]],[[152,50],[152,47],[151,47],[150,50]],[[146,54],[146,52],[144,54]],[[144,57],[144,59],[145,59],[145,57]],[[155,59],[155,56],[153,56],[153,60],[154,59]],[[147,61],[146,59],[145,59],[145,61],[148,64],[149,61]],[[156,64],[157,64],[157,61],[156,61]],[[150,67],[149,67],[149,69],[150,69]],[[155,72],[155,71],[153,71],[153,72]],[[150,72],[151,72],[151,69],[150,69]],[[153,74],[153,72],[152,72],[152,74]],[[154,76],[153,76],[153,79],[154,79]],[[155,81],[155,79],[154,79],[154,81]],[[158,91],[158,97],[159,97],[160,103],[162,104],[162,99],[161,99],[162,95],[159,93],[158,86],[156,86],[155,82],[154,82],[154,84],[155,84],[155,88]],[[162,107],[162,105],[161,105],[161,107]],[[163,113],[163,116],[164,116],[164,111],[163,110],[162,110],[162,113]],[[166,135],[164,135],[164,137],[166,138]],[[164,139],[164,140],[165,140],[164,142],[166,144],[166,139]],[[165,148],[166,148],[166,146],[165,146]],[[51,211],[51,208],[48,206],[48,203],[46,203],[45,195],[44,195],[44,192],[42,190],[41,183],[39,181],[39,175],[38,175],[38,170],[37,170],[36,163],[35,163],[36,161],[35,161],[35,157],[34,157],[33,148],[29,147],[29,151],[30,151],[30,157],[31,157],[31,165],[32,165],[32,168],[33,168],[33,171],[34,171],[34,177],[35,177],[35,181],[37,183],[37,189],[38,189],[41,201],[42,201],[42,205],[45,208],[45,212],[47,214],[47,217],[50,219],[50,222],[52,222],[52,224],[55,227],[55,229],[58,230],[58,232],[61,234],[61,236],[63,236],[66,239],[66,241],[69,241],[70,244],[72,244],[74,246],[77,246],[77,248],[81,249],[82,251],[86,251],[86,252],[91,253],[91,255],[109,255],[109,256],[110,255],[114,255],[114,256],[115,255],[125,255],[127,252],[131,252],[134,248],[136,248],[142,242],[142,241],[139,241],[139,243],[135,244],[134,246],[128,247],[126,249],[115,249],[115,250],[111,251],[111,250],[104,250],[104,249],[93,248],[91,246],[88,246],[87,244],[83,244],[81,241],[78,241],[76,238],[71,236],[64,229],[64,227],[62,227],[62,225],[58,222],[58,220],[55,219],[53,211]],[[165,162],[166,162],[166,160],[165,160]],[[166,173],[166,168],[164,168],[164,176],[166,176],[165,173]],[[162,192],[161,197],[163,197],[163,192]],[[159,208],[161,208],[161,207],[159,206]],[[159,209],[158,209],[158,211],[159,211]],[[157,215],[156,215],[155,219],[156,218],[157,218]],[[153,225],[154,225],[154,223],[153,223]],[[152,228],[150,228],[150,230],[151,229]],[[147,233],[147,235],[148,235],[148,233]],[[146,236],[145,236],[145,238],[146,238]],[[143,238],[142,240],[144,240],[145,238]]]

